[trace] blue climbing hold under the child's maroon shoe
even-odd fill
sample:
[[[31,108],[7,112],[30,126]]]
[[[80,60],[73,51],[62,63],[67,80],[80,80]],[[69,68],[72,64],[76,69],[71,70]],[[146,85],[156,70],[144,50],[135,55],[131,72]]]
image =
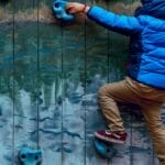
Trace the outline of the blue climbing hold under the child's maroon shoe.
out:
[[[100,140],[95,140],[95,147],[97,152],[106,158],[112,158],[117,155],[117,150],[112,145],[113,144],[107,144]]]

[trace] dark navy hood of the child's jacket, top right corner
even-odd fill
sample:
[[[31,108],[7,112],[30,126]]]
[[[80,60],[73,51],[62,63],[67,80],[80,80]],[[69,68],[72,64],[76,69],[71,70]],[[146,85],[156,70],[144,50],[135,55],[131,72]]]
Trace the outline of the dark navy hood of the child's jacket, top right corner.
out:
[[[141,0],[142,7],[135,10],[138,15],[151,15],[165,20],[165,0]]]

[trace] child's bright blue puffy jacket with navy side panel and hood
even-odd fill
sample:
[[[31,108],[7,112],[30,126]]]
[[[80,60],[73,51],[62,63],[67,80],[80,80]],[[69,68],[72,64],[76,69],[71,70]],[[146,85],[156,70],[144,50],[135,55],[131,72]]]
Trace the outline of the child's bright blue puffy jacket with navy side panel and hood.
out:
[[[165,89],[165,0],[142,0],[134,16],[91,7],[88,18],[130,36],[128,74],[151,87]]]

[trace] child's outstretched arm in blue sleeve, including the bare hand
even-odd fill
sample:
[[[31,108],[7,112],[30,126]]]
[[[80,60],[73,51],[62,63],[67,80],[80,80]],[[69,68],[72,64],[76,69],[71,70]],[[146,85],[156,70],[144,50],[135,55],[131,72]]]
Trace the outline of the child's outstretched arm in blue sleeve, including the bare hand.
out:
[[[141,32],[143,29],[138,18],[119,15],[100,7],[94,6],[90,8],[81,3],[70,2],[66,9],[70,13],[87,13],[89,19],[96,21],[100,25],[124,35]]]

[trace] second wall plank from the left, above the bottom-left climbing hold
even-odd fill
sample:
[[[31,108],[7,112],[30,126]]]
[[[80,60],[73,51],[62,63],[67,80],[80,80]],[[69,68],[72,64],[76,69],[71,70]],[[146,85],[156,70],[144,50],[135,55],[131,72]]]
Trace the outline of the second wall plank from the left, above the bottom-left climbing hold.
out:
[[[20,25],[15,14],[22,7],[37,8],[33,3],[13,1],[13,142],[14,162],[24,145],[38,146],[38,69],[37,69],[37,13],[34,23]],[[24,35],[26,34],[26,35]],[[32,74],[33,73],[33,74]]]

